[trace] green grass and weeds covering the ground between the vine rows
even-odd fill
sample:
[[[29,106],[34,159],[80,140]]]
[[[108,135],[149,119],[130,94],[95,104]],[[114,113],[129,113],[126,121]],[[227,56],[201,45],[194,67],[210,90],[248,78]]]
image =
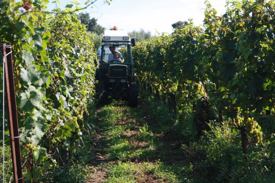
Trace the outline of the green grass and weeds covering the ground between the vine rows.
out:
[[[79,149],[72,152],[66,171],[64,167],[53,167],[40,182],[274,180],[275,134],[269,128],[272,117],[259,121],[264,141],[251,144],[249,153],[244,155],[238,131],[233,133],[231,127],[213,123],[211,130],[197,137],[190,110],[174,118],[167,106],[151,97],[142,99],[137,108],[109,98],[106,105],[91,108],[90,114],[84,121],[86,130]],[[6,166],[6,171],[12,170],[11,162]],[[12,174],[7,175],[8,182]]]

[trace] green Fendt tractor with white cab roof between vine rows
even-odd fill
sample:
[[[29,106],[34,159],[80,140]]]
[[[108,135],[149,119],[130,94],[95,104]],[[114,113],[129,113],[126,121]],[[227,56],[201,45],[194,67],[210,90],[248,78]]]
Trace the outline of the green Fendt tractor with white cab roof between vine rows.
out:
[[[111,46],[112,45],[112,46]],[[138,84],[135,83],[134,62],[131,47],[135,39],[130,39],[126,31],[105,30],[102,45],[99,49],[99,67],[96,70],[96,95],[100,102],[108,96],[127,99],[130,106],[138,105]],[[123,59],[110,60],[110,48],[121,52]],[[110,57],[111,57],[110,56]],[[108,62],[109,58],[109,62]]]

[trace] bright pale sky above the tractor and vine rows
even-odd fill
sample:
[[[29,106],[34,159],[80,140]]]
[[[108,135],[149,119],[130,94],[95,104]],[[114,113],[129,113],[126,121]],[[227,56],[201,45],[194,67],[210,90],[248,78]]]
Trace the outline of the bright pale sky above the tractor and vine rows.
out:
[[[85,2],[86,0],[79,0]],[[218,15],[226,11],[226,0],[209,0]],[[48,10],[54,8],[54,4],[48,4]],[[71,0],[60,0],[61,9]],[[173,23],[193,19],[195,25],[202,25],[204,20],[204,0],[112,0],[110,5],[104,0],[97,0],[93,6],[80,11],[89,13],[90,18],[97,19],[97,23],[107,30],[116,26],[118,30],[141,29],[150,31],[152,35],[157,33],[173,32]],[[82,5],[84,7],[84,5]]]

